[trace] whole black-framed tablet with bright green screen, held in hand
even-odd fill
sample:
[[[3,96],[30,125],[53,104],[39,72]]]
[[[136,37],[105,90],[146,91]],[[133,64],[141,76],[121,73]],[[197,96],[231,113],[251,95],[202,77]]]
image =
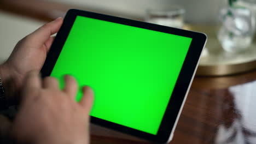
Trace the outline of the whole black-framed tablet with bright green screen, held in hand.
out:
[[[202,33],[71,9],[41,73],[92,87],[92,123],[166,143],[205,43]]]

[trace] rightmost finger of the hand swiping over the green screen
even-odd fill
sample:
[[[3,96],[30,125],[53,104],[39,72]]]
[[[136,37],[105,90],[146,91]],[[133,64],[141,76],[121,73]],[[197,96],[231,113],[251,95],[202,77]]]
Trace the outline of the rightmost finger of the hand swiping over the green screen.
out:
[[[86,113],[90,113],[93,102],[94,92],[89,86],[83,87],[83,98],[79,103],[84,107]]]

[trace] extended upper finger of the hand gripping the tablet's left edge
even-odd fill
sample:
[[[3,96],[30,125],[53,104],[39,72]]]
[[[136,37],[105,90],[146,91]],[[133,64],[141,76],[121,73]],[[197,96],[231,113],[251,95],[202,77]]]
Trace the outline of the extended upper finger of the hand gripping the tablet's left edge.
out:
[[[28,38],[31,39],[31,41],[37,41],[37,44],[42,46],[52,34],[55,34],[59,31],[62,22],[62,17],[59,17],[52,22],[46,23],[44,26],[38,28],[36,31],[28,35]]]

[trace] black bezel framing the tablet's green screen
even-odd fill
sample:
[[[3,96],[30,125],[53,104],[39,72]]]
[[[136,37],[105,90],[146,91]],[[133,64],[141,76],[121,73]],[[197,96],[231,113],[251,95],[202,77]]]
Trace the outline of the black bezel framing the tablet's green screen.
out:
[[[193,79],[194,71],[197,67],[201,51],[206,42],[206,35],[172,27],[154,25],[147,22],[129,20],[115,16],[91,13],[89,11],[71,9],[67,12],[60,31],[57,33],[54,43],[51,45],[51,49],[48,53],[48,56],[46,57],[45,63],[41,70],[42,77],[49,76],[51,74],[57,58],[60,55],[62,47],[68,37],[69,31],[73,26],[74,20],[78,15],[192,38],[188,54],[183,63],[181,73],[178,76],[176,85],[173,89],[171,99],[168,102],[168,106],[157,135],[148,134],[143,131],[125,127],[123,125],[119,125],[113,122],[108,122],[100,118],[91,117],[92,123],[102,125],[103,127],[118,130],[123,133],[138,136],[142,139],[154,141],[157,143],[166,143],[170,137],[170,134],[172,133],[172,129],[174,129],[175,127],[176,119],[179,116],[179,111],[182,109],[183,101],[189,89],[191,79]]]

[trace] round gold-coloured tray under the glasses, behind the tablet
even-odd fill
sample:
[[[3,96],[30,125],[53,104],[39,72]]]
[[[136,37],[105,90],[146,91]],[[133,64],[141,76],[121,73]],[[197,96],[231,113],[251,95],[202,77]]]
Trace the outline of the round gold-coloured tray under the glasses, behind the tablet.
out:
[[[218,26],[185,26],[190,31],[207,34],[207,44],[199,62],[196,75],[222,76],[256,69],[256,39],[248,50],[229,53],[222,49],[218,39]]]

